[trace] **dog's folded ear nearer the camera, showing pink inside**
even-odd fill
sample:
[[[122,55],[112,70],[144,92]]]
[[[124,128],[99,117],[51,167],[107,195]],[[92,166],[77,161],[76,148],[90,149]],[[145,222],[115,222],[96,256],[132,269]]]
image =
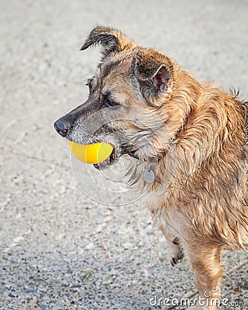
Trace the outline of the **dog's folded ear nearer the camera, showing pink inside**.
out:
[[[174,90],[174,71],[168,56],[154,50],[139,51],[134,57],[134,75],[141,85],[141,91],[159,96]]]

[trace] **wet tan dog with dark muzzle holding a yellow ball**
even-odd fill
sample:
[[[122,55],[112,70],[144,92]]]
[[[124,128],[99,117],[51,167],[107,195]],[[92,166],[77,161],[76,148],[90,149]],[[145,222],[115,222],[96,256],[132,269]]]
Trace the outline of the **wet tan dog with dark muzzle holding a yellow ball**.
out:
[[[247,252],[247,105],[209,81],[199,82],[170,56],[96,26],[81,50],[101,46],[87,81],[87,101],[54,127],[75,143],[105,141],[125,155],[130,186],[148,192],[148,207],[171,250],[187,257],[204,304],[217,309],[223,249]],[[206,296],[206,292],[209,292]]]

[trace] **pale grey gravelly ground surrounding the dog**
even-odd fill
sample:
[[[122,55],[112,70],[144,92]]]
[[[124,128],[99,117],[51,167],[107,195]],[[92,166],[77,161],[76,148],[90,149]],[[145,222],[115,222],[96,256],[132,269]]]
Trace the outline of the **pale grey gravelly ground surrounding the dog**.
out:
[[[167,309],[195,290],[141,200],[72,160],[54,121],[87,96],[99,52],[79,52],[100,23],[163,50],[198,79],[248,94],[248,2],[0,1],[0,309]],[[87,196],[76,185],[76,180]],[[92,182],[105,186],[92,186]],[[111,203],[112,205],[103,205]],[[114,206],[118,205],[118,206]],[[227,270],[247,256],[226,252]],[[248,267],[223,298],[248,304]],[[150,300],[152,299],[152,304]],[[185,307],[176,307],[185,309]],[[247,309],[229,305],[221,309]]]

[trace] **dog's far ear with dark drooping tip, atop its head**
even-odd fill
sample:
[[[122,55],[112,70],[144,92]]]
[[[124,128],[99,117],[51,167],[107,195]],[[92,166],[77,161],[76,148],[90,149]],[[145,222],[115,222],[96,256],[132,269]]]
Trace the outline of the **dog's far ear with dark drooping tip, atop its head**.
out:
[[[92,45],[101,45],[103,56],[108,56],[112,52],[121,52],[132,48],[135,44],[134,41],[116,29],[97,26],[90,32],[80,50],[86,50]]]

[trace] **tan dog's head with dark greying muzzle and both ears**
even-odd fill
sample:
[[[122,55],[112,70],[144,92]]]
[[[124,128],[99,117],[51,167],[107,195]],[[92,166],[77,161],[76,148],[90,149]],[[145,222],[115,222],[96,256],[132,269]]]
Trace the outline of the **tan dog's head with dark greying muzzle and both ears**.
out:
[[[87,82],[88,99],[56,121],[57,132],[76,143],[112,144],[110,158],[98,169],[123,154],[144,161],[165,154],[188,109],[172,100],[179,66],[111,28],[94,28],[81,50],[96,44],[103,58]]]

